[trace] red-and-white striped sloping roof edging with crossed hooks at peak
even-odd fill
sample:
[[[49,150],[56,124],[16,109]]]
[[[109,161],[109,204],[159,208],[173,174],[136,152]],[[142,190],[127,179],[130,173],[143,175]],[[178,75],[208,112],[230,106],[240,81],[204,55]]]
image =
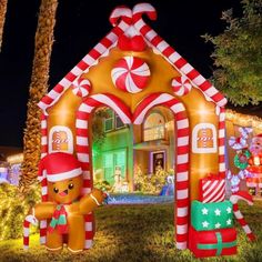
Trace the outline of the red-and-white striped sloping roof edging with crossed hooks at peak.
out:
[[[39,102],[39,107],[47,113],[47,109],[53,105],[64,91],[75,83],[82,73],[99,62],[99,59],[107,57],[111,48],[117,46],[119,38],[125,36],[142,36],[147,44],[154,52],[174,67],[175,70],[189,79],[194,87],[202,91],[205,99],[213,101],[219,107],[224,107],[226,99],[201,75],[185,59],[183,59],[172,47],[170,47],[154,30],[143,20],[147,14],[151,20],[157,19],[157,11],[150,3],[139,3],[129,9],[128,7],[115,8],[110,22],[113,29]],[[85,83],[88,84],[88,83]]]

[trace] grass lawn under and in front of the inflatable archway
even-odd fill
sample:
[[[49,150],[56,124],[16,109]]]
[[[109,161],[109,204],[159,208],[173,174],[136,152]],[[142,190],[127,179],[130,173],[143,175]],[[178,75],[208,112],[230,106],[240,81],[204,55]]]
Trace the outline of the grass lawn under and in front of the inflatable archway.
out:
[[[199,261],[262,261],[262,201],[240,209],[255,232],[258,241],[250,243],[238,225],[238,255]],[[91,250],[71,254],[64,249],[51,254],[31,235],[30,249],[22,250],[22,240],[0,242],[0,262],[16,261],[198,261],[189,250],[178,251],[173,242],[173,205],[130,204],[104,205],[95,211],[97,234]]]

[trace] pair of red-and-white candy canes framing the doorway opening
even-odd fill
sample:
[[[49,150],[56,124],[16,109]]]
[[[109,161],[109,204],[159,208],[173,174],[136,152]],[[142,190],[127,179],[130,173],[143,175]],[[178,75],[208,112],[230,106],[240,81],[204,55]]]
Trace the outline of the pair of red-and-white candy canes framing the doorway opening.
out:
[[[157,105],[169,108],[174,114],[175,123],[175,240],[178,249],[187,249],[189,224],[189,119],[184,105],[168,93],[153,93],[143,99],[137,107],[133,115],[129,108],[112,94],[94,94],[82,102],[77,112],[77,157],[82,163],[84,175],[83,193],[92,188],[91,144],[89,141],[89,119],[93,109],[107,105],[114,110],[123,123],[141,124],[150,109]],[[132,117],[131,117],[132,115]],[[91,216],[85,228],[92,232]],[[87,241],[93,234],[87,233]]]

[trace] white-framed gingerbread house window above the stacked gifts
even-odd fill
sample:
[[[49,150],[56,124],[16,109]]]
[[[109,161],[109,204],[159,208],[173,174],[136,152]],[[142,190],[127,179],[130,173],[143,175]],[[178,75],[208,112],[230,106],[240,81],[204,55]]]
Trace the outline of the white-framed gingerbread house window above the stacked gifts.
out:
[[[192,133],[193,153],[215,153],[218,151],[216,129],[212,123],[199,123]]]

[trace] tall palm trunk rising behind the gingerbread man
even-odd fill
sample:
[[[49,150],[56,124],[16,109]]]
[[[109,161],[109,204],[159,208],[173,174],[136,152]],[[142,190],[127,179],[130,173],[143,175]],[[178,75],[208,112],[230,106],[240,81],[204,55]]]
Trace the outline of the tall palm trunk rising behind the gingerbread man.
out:
[[[36,182],[41,151],[40,114],[38,102],[48,92],[50,58],[58,0],[42,0],[34,42],[34,59],[29,89],[28,114],[23,137],[22,175],[19,188],[27,192]]]

